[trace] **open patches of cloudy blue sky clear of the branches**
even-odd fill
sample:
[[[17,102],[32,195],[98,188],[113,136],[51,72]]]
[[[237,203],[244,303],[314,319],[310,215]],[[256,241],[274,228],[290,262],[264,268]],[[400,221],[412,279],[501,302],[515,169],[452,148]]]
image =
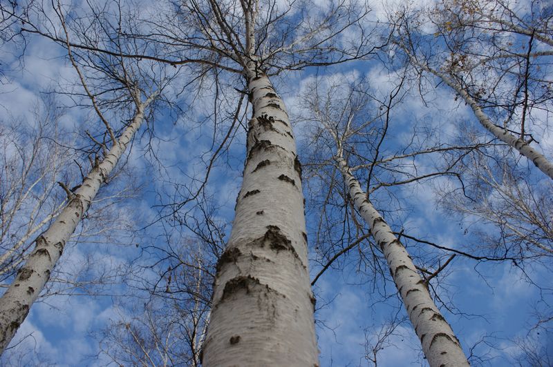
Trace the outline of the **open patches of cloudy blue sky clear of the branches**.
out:
[[[375,17],[384,14],[381,6],[375,8]],[[63,84],[76,80],[73,69],[65,62],[63,50],[51,46],[51,43],[44,39],[30,39],[22,69],[18,68],[17,50],[3,48],[0,52],[3,63],[6,61],[13,66],[12,70],[6,70],[9,82],[0,85],[0,108],[11,115],[32,119],[30,106],[35,103],[39,92],[55,88],[58,81],[62,81]],[[377,63],[355,63],[317,72],[325,74],[324,77],[328,77],[326,74],[337,74],[335,78],[344,75],[353,75],[355,78],[365,76],[373,90],[382,95],[389,92],[394,78]],[[308,70],[303,74],[288,73],[275,80],[277,90],[283,92],[292,116],[299,114],[298,95],[314,74],[314,70]],[[60,270],[65,272],[69,279],[75,271],[82,270],[81,264],[88,257],[91,257],[89,264],[102,263],[114,270],[139,257],[141,248],[133,245],[141,239],[147,243],[159,241],[161,229],[158,226],[138,232],[135,237],[132,236],[132,232],[156,217],[156,204],[160,204],[156,192],[171,192],[171,182],[185,181],[187,177],[203,177],[203,164],[199,164],[198,159],[205,159],[202,153],[209,150],[212,129],[206,126],[196,128],[194,119],[213,103],[208,92],[203,97],[201,101],[196,101],[189,115],[186,115],[187,118],[173,123],[174,121],[165,116],[154,122],[156,138],[152,141],[153,148],[158,159],[167,166],[167,170],[160,173],[156,162],[149,159],[151,156],[146,152],[147,138],[144,137],[133,146],[127,168],[140,177],[136,184],[142,184],[144,188],[140,195],[129,197],[117,206],[110,207],[113,217],[125,219],[125,223],[129,223],[129,237],[124,239],[131,246],[95,244],[94,239],[98,237],[91,237],[88,243],[71,244],[60,264]],[[418,98],[416,90],[412,90],[405,102],[397,110],[393,110],[394,139],[387,142],[391,149],[401,146],[409,139],[404,127],[413,121],[431,121],[433,127],[439,131],[440,137],[447,138],[457,132],[453,121],[473,119],[471,111],[459,101],[455,101],[454,94],[443,86],[437,90],[429,88],[426,97],[427,101],[430,101],[428,107]],[[65,97],[61,99],[63,102],[71,103]],[[84,112],[72,108],[62,121],[67,129],[79,130],[86,124],[86,119]],[[309,148],[306,146],[307,137],[302,126],[301,122],[294,126],[299,152],[307,151]],[[553,136],[543,136],[541,146],[546,152],[553,152]],[[216,219],[221,223],[230,223],[234,215],[234,199],[240,188],[244,150],[245,133],[240,129],[234,137],[228,156],[225,157],[227,161],[218,162],[210,177],[208,192],[214,195],[214,202],[218,207]],[[429,162],[420,162],[423,166],[425,163]],[[151,175],[161,177],[154,180]],[[124,186],[124,182],[120,185]],[[402,206],[406,210],[395,217],[396,226],[401,223],[404,228],[409,228],[413,235],[446,246],[473,244],[477,239],[473,232],[465,231],[465,223],[459,218],[449,217],[434,202],[435,187],[433,184],[424,183],[397,189],[395,192],[402,199]],[[106,191],[106,195],[109,195],[109,192]],[[382,203],[385,202],[386,199],[382,199]],[[317,221],[317,213],[312,211],[313,208],[316,207],[308,203],[308,209],[311,209],[308,210],[310,244],[315,244],[314,228]],[[230,226],[225,229],[228,234]],[[414,247],[412,250],[420,249]],[[359,270],[355,251],[357,249],[341,260],[342,269],[328,270],[319,279],[315,288],[318,307],[315,317],[321,366],[371,366],[364,359],[366,340],[371,341],[371,337],[378,333],[382,324],[397,313],[398,307],[399,315],[404,315],[400,302],[395,297],[391,297],[386,303],[380,301],[377,290],[382,290],[384,284],[380,283],[377,290],[371,286],[368,281],[371,275],[364,275]],[[312,250],[310,258],[316,257],[316,252]],[[529,333],[529,328],[534,322],[534,305],[540,297],[545,297],[545,301],[552,301],[551,292],[540,293],[536,286],[525,280],[521,270],[509,262],[478,264],[476,261],[457,257],[448,269],[449,274],[443,279],[444,286],[438,288],[438,292],[440,297],[449,299],[456,308],[454,313],[449,313],[445,309],[443,312],[458,334],[465,352],[468,355],[469,348],[477,344],[482,337],[487,337],[485,341],[495,347],[491,348],[484,343],[478,344],[475,353],[484,357],[482,361],[475,361],[475,365],[505,366],[514,363],[513,358],[520,353],[514,343],[516,338],[543,343],[550,348],[549,350],[553,348],[550,335],[544,339],[543,335],[538,337],[536,331]],[[525,270],[538,285],[551,287],[550,272],[546,265],[534,264],[527,266]],[[93,273],[94,271],[91,270]],[[153,278],[156,277],[156,271],[144,270],[142,275],[145,278]],[[319,266],[312,262],[312,275],[318,271]],[[84,276],[90,275],[91,272],[86,272]],[[120,279],[118,276],[116,274],[113,277],[113,284],[97,290],[102,294],[100,296],[52,295],[35,304],[12,341],[12,345],[17,346],[9,350],[2,357],[2,361],[6,364],[20,365],[109,364],[108,357],[99,353],[97,339],[93,334],[108,326],[110,320],[129,317],[129,310],[119,299],[121,296],[124,297],[129,289],[117,284],[117,279]],[[393,295],[393,284],[388,281],[385,286],[388,294]],[[79,290],[77,293],[80,293]],[[543,307],[543,304],[539,304],[538,307]],[[378,355],[379,366],[424,366],[426,363],[409,321],[397,327],[386,345]],[[19,359],[21,353],[24,357]]]

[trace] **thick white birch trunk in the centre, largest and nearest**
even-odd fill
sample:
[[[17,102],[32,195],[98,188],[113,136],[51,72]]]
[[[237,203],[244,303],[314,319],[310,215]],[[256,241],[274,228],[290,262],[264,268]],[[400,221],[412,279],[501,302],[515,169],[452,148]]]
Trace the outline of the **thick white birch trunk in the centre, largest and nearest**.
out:
[[[253,117],[236,216],[217,264],[203,366],[317,366],[301,166],[284,103],[247,72]]]

